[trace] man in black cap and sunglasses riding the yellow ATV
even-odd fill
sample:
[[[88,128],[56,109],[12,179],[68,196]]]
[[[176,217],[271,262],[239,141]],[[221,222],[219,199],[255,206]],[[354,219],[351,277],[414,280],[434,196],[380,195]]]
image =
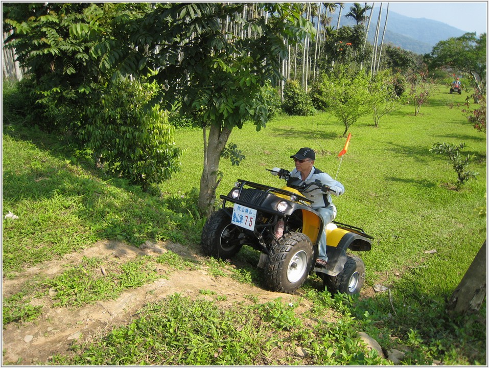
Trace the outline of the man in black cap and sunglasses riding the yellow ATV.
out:
[[[336,181],[327,173],[314,167],[316,153],[312,148],[301,148],[296,154],[290,156],[290,158],[293,158],[295,161],[295,169],[292,170],[291,177],[299,178],[306,183],[311,183],[319,179],[323,185],[335,191],[324,193],[320,188],[317,188],[317,190],[313,190],[310,193],[302,193],[306,198],[313,201],[311,204],[312,208],[319,212],[324,223],[323,232],[319,239],[319,255],[316,263],[319,266],[325,267],[328,261],[328,256],[326,255],[326,225],[336,217],[336,206],[331,201],[331,193],[339,196],[344,193],[345,188],[339,181]]]

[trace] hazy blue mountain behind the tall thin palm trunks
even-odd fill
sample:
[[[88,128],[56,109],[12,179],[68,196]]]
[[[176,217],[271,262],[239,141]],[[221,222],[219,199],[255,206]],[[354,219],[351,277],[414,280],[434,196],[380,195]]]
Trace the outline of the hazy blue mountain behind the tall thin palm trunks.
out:
[[[363,3],[361,3],[363,5]],[[346,18],[344,15],[350,11],[353,3],[344,3],[344,8],[341,11],[341,26],[354,26],[354,20]],[[374,13],[370,22],[368,31],[368,41],[374,43],[375,28],[377,27],[377,19],[379,18],[380,5],[374,6]],[[382,16],[380,20],[379,43],[384,30],[385,14],[387,5],[382,6]],[[370,15],[370,11],[367,11]],[[336,26],[338,21],[338,10],[332,15],[331,25]],[[416,54],[427,54],[433,49],[433,46],[441,40],[446,40],[450,37],[459,37],[466,33],[455,27],[449,26],[446,23],[431,20],[426,18],[411,18],[399,13],[389,11],[387,19],[387,29],[385,32],[384,43],[392,43],[394,46],[399,46],[404,50],[412,51]]]

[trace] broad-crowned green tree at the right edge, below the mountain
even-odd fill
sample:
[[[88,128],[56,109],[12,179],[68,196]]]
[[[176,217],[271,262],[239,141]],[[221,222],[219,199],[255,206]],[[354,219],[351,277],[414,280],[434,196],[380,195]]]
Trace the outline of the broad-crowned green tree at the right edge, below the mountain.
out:
[[[468,73],[474,78],[476,87],[485,92],[487,69],[487,34],[465,33],[439,41],[425,61],[430,68],[449,67]]]

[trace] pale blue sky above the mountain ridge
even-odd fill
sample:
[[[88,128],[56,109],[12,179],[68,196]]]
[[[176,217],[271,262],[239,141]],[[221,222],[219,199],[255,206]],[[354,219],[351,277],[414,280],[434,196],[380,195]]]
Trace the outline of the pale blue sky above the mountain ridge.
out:
[[[486,1],[389,2],[389,11],[411,18],[438,20],[465,32],[477,32],[478,35],[487,32]]]

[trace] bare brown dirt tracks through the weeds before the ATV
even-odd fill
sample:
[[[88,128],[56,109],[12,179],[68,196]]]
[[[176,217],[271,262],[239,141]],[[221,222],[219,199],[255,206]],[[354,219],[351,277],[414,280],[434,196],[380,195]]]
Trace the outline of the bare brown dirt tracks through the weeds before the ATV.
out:
[[[24,283],[35,277],[55,277],[63,272],[66,266],[81,263],[83,257],[110,259],[119,258],[128,261],[138,256],[157,255],[172,250],[187,259],[202,260],[189,248],[171,242],[151,244],[138,249],[121,242],[100,242],[95,246],[76,254],[69,254],[61,260],[50,261],[27,269],[13,279],[3,280],[3,297],[21,290]],[[247,301],[243,295],[254,295],[259,303],[266,303],[277,297],[285,302],[297,300],[298,295],[274,293],[256,286],[241,284],[227,277],[218,280],[205,269],[192,271],[172,271],[168,279],[158,279],[152,284],[124,292],[117,300],[97,302],[80,308],[54,308],[49,297],[35,299],[32,304],[42,306],[42,315],[31,323],[8,324],[3,330],[3,365],[5,364],[43,364],[54,354],[67,353],[74,340],[79,342],[93,339],[111,330],[114,326],[123,325],[134,317],[134,314],[145,304],[157,302],[162,298],[181,293],[183,296],[206,297],[200,290],[215,292],[214,296],[224,295],[223,307],[237,302]],[[211,297],[211,296],[207,296]],[[302,301],[296,310],[307,308]]]

